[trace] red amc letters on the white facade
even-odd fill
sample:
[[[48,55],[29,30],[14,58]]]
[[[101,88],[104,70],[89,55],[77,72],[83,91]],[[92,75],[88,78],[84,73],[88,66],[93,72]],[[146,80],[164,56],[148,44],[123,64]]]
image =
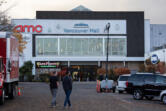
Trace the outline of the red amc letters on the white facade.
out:
[[[43,27],[41,25],[17,25],[16,27],[14,27],[14,30],[16,32],[25,32],[27,30],[27,32],[30,32],[32,30],[32,32],[37,32],[40,33],[43,30]]]

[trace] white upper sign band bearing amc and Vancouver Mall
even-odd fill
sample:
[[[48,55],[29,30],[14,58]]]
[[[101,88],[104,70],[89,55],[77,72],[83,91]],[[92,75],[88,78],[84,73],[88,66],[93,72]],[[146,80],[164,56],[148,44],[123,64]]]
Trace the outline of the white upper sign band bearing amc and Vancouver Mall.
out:
[[[110,34],[127,34],[126,20],[13,20],[14,29],[22,33],[41,34],[105,34],[110,23]],[[21,24],[21,25],[20,25]]]

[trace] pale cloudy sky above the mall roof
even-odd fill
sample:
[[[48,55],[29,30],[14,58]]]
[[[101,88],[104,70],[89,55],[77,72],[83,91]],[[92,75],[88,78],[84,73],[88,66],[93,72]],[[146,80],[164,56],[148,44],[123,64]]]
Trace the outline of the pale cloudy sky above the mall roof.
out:
[[[166,24],[166,0],[7,0],[0,10],[11,18],[35,19],[37,10],[70,11],[83,5],[92,11],[145,11],[152,24]]]

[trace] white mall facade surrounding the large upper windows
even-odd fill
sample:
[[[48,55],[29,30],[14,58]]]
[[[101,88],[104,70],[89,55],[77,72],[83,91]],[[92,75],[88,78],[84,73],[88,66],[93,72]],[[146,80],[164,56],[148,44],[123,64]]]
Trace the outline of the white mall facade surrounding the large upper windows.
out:
[[[105,61],[105,46],[104,42],[107,38],[107,33],[104,32],[105,26],[107,23],[111,23],[110,27],[110,39],[112,38],[125,38],[127,41],[127,25],[126,20],[12,20],[12,24],[15,26],[18,25],[41,25],[42,32],[36,33],[32,32],[23,32],[23,37],[27,41],[26,49],[23,52],[23,57],[20,59],[20,66],[23,65],[24,61],[31,60],[34,64],[35,61]],[[57,56],[32,56],[32,38],[33,34],[37,34],[36,38],[43,38],[42,34],[47,34],[47,37],[57,38],[58,40],[58,55]],[[50,36],[50,35],[51,36]],[[54,35],[55,34],[55,35]],[[58,35],[59,34],[59,35]],[[71,34],[71,36],[64,36],[63,34]],[[76,34],[77,36],[72,36]],[[87,35],[86,35],[87,34]],[[93,34],[100,36],[93,36]],[[84,36],[82,36],[84,35]],[[45,37],[46,37],[45,36]],[[45,38],[44,37],[44,38]],[[102,55],[100,56],[61,56],[60,55],[60,45],[59,41],[61,38],[99,38],[102,39]],[[150,21],[145,20],[145,53],[150,52]],[[127,43],[126,43],[127,45]],[[126,53],[127,53],[127,46]],[[122,56],[109,56],[109,61],[144,61],[144,57],[127,57],[127,54]],[[100,63],[100,62],[99,62]],[[35,74],[35,65],[33,68],[33,74]]]

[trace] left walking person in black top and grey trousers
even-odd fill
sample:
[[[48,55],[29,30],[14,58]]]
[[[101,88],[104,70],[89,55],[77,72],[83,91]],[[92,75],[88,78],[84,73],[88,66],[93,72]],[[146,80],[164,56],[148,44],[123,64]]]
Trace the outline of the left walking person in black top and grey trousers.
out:
[[[58,91],[58,72],[51,72],[50,74],[50,90],[52,94],[51,107],[56,107],[56,95]]]

